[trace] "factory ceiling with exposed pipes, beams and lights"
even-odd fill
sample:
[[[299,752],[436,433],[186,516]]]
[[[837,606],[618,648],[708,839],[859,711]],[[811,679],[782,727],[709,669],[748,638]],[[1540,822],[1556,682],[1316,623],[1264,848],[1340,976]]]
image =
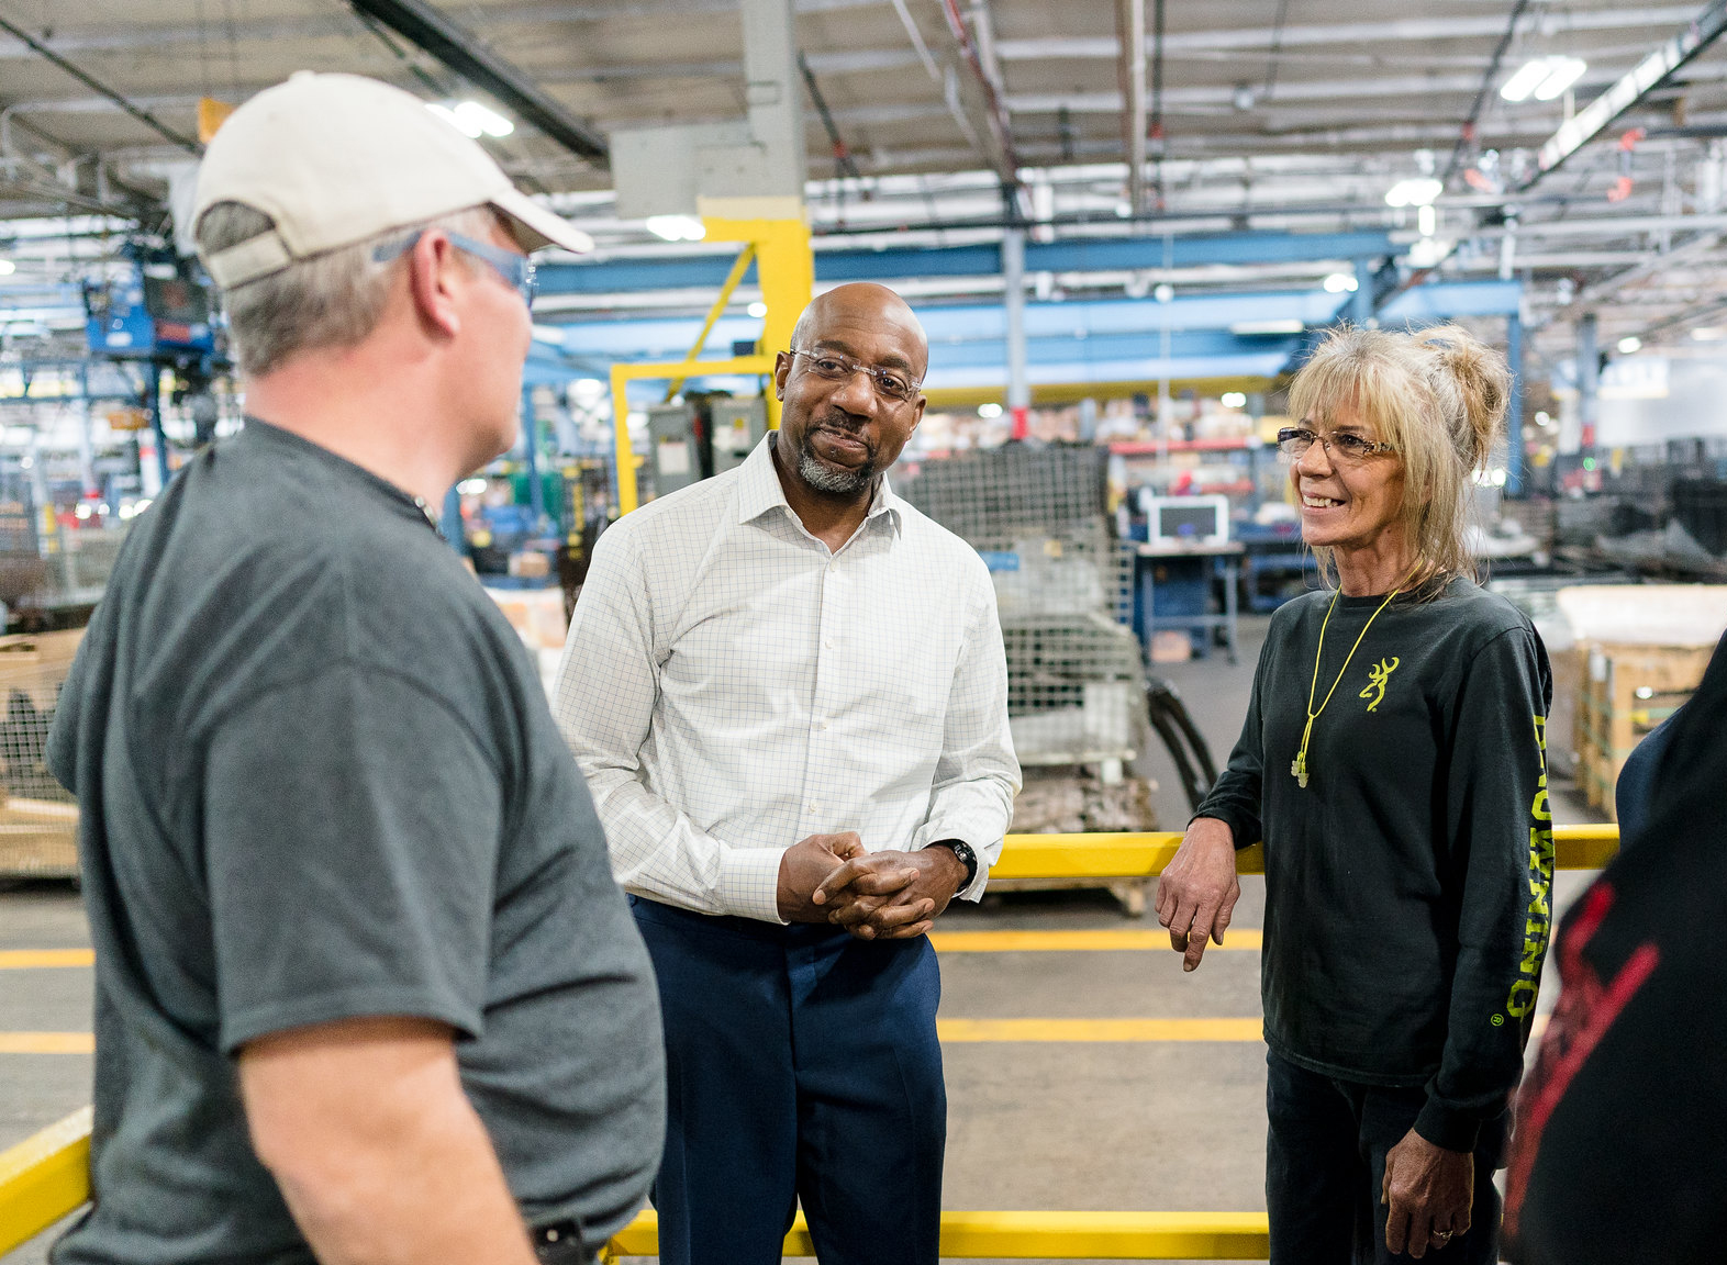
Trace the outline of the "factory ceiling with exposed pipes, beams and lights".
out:
[[[744,114],[737,0],[435,3],[585,135]],[[988,242],[1009,216],[1057,240],[1390,230],[1411,252],[1406,278],[1413,264],[1523,280],[1530,323],[1547,330],[1537,350],[1566,345],[1582,311],[1599,314],[1606,345],[1630,335],[1684,343],[1720,319],[1720,47],[1705,43],[1635,93],[1556,169],[1542,171],[1539,154],[1573,112],[1587,116],[1720,7],[794,0],[817,245]],[[174,173],[193,160],[185,142],[199,100],[238,104],[297,69],[356,71],[427,100],[511,112],[368,9],[0,0],[0,28],[17,31],[0,29],[0,219],[16,223],[14,255],[50,267],[98,249],[67,243],[66,216],[86,230],[119,224],[104,216],[161,224]],[[1501,88],[1534,59],[1582,67],[1565,91],[1506,100]],[[641,221],[617,219],[604,157],[566,138],[520,119],[487,145],[606,257],[701,249],[665,247]],[[1432,212],[1387,205],[1394,186],[1420,179],[1440,181]],[[0,224],[0,245],[7,233]],[[1318,283],[1323,266],[1304,267],[1169,280],[1188,290]],[[1119,293],[1123,281],[1109,285]]]

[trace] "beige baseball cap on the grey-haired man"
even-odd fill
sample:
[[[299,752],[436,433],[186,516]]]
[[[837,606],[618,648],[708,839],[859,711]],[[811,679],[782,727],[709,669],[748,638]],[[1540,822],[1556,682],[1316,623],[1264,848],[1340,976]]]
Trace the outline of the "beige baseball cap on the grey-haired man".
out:
[[[214,255],[199,252],[223,290],[478,205],[503,212],[523,250],[594,247],[421,100],[359,74],[300,71],[235,110],[204,154],[192,223],[218,202],[276,221]]]

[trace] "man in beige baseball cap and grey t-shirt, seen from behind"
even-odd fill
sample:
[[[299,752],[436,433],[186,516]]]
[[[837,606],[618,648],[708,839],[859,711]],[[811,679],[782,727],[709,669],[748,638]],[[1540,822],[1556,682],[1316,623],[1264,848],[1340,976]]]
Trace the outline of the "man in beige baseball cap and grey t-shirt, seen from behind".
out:
[[[589,1265],[660,1160],[651,968],[423,513],[515,440],[525,252],[582,236],[340,74],[228,119],[195,235],[247,425],[135,519],[50,737],[98,992],[55,1260]]]

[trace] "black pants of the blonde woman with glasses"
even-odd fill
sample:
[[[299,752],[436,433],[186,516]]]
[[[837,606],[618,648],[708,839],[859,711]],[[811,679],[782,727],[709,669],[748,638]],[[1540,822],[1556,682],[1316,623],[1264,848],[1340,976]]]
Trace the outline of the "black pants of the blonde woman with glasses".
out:
[[[1406,1262],[1385,1248],[1385,1153],[1404,1139],[1427,1103],[1423,1089],[1387,1089],[1335,1080],[1266,1056],[1266,1208],[1273,1265],[1385,1265]],[[1496,1265],[1502,1123],[1482,1129],[1475,1151],[1475,1203],[1470,1232],[1442,1249],[1433,1265]]]

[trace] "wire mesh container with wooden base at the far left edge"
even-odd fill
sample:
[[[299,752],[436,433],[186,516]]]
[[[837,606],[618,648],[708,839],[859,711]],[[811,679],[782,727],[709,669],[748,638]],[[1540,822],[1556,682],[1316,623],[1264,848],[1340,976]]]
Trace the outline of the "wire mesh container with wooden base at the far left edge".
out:
[[[83,630],[0,637],[0,877],[78,875],[78,804],[47,765],[48,727]]]

